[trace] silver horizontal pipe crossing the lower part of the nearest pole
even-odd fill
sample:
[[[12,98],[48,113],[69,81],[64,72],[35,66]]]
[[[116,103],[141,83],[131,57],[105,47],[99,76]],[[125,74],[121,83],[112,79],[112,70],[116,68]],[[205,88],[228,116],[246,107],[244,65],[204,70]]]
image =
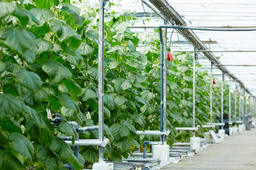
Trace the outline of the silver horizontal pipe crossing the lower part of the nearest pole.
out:
[[[65,141],[68,145],[72,146],[89,146],[89,145],[97,145],[105,147],[109,143],[109,139],[105,138],[103,141],[99,141],[99,139],[88,139],[88,140],[75,140],[74,144],[72,144],[72,141],[66,140]]]

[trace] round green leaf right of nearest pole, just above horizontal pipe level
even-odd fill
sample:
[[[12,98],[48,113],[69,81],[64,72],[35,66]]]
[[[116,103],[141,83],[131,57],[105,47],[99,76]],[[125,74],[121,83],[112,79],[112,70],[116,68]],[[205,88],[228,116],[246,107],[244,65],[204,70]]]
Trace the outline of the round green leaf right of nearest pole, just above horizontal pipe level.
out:
[[[113,137],[115,140],[119,140],[130,135],[130,130],[124,125],[121,125],[119,123],[115,123],[111,125],[110,129],[113,132]]]

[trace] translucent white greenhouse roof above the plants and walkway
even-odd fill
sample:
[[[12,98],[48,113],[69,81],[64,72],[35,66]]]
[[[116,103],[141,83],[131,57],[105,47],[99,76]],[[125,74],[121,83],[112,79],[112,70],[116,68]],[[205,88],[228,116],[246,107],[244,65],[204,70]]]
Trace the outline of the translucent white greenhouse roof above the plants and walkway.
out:
[[[151,2],[156,1],[146,2],[152,5]],[[206,1],[202,0],[167,0],[167,2],[174,9],[174,11],[168,12],[178,12],[178,15],[186,22],[187,25],[194,27],[255,28],[256,25],[256,4],[253,0],[215,0],[207,1],[207,3],[205,3]],[[98,1],[91,0],[90,3],[95,3],[96,5]],[[139,18],[138,21],[143,20],[144,25],[146,26],[157,26],[164,23],[159,15],[155,14],[153,10],[142,3],[142,1],[122,0],[117,2],[116,0],[113,0],[112,3],[114,3],[115,6],[112,6],[108,12],[115,11],[118,13],[124,10],[130,10],[131,13],[136,12],[137,14],[134,15]],[[147,21],[145,18],[151,19]],[[142,22],[135,22],[132,24],[133,26],[141,26]],[[145,34],[148,34],[154,30],[154,28],[131,29],[135,32],[144,32]],[[169,44],[172,31],[173,29],[167,30],[167,44]],[[236,64],[236,66],[225,67],[244,84],[244,87],[248,89],[253,96],[256,96],[256,74],[254,74],[254,70],[256,69],[256,52],[229,52],[231,50],[254,50],[256,44],[256,31],[225,32],[193,30],[193,32],[201,41],[204,42],[208,49],[225,51],[213,52],[213,54],[223,65]],[[178,49],[193,50],[193,46],[189,44],[189,42],[181,34],[174,30],[172,35],[171,51]],[[204,56],[203,53],[200,53],[200,55]],[[210,64],[208,59],[200,59],[200,62],[202,64]],[[255,66],[237,66],[248,64],[255,64]],[[208,68],[210,67],[208,66]],[[221,74],[221,71],[217,67],[214,67],[213,71],[215,74]],[[221,75],[219,75],[219,77],[221,77]],[[229,77],[226,78],[226,80],[229,80]],[[232,84],[234,85],[235,83],[232,82]],[[235,86],[232,86],[232,88],[234,87]]]

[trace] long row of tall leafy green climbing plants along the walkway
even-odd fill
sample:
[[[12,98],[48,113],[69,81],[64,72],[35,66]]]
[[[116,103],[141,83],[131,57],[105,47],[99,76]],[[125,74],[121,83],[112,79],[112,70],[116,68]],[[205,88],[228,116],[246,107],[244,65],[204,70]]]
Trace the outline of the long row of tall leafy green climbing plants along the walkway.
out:
[[[79,126],[98,124],[98,7],[69,0],[0,1],[0,167],[3,169],[65,169],[70,162],[82,169],[98,161],[95,146],[72,147],[57,135],[76,138],[68,121]],[[83,4],[84,5],[84,4]],[[112,4],[114,5],[114,4]],[[141,36],[130,23],[134,13],[112,11],[104,24],[104,158],[121,161],[141,149],[144,140],[159,136],[136,135],[137,130],[159,130],[160,43],[158,30]],[[138,44],[144,48],[138,50]],[[193,58],[174,55],[167,61],[168,144],[188,141],[192,126]],[[209,75],[196,64],[196,125],[209,121]],[[220,84],[213,85],[214,114],[220,112]],[[225,84],[224,110],[228,111]],[[51,114],[66,120],[51,124]],[[86,114],[90,113],[91,119]],[[71,133],[70,133],[71,132]],[[198,132],[202,136],[203,131]],[[98,132],[79,133],[97,139]],[[147,148],[150,151],[150,147]]]

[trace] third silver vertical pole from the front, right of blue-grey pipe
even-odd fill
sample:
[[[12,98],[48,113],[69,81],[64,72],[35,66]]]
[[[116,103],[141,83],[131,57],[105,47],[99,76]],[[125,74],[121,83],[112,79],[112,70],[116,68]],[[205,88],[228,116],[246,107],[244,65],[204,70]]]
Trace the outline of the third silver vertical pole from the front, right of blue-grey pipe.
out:
[[[194,47],[194,57],[193,57],[193,127],[196,127],[196,51]],[[195,131],[193,132],[193,137],[195,137]]]

